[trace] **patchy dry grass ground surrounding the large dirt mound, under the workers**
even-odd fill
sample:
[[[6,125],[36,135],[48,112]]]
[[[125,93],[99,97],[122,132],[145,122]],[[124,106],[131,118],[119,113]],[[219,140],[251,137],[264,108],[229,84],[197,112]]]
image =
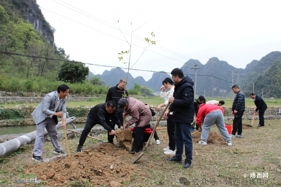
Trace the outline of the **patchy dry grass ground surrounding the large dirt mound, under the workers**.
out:
[[[232,121],[226,122],[232,124]],[[245,120],[243,124],[251,124],[251,121]],[[232,146],[226,146],[224,142],[202,146],[193,141],[193,160],[192,167],[189,169],[183,169],[180,164],[166,160],[170,156],[163,154],[162,150],[168,145],[167,131],[166,129],[158,130],[160,145],[156,145],[153,140],[151,152],[149,146],[149,149],[136,164],[132,163],[136,155],[128,153],[127,156],[118,158],[140,169],[141,173],[141,175],[132,176],[131,181],[125,183],[124,186],[280,186],[280,128],[280,120],[265,120],[265,127],[262,128],[243,126],[243,138],[233,138]],[[216,126],[211,127],[210,131],[216,132],[220,136]],[[104,140],[106,137],[106,134],[98,135],[98,138]],[[78,137],[68,140],[71,152],[76,150],[78,141]],[[60,141],[60,145],[66,151],[64,140]],[[98,145],[100,145],[99,142],[87,138],[83,150]],[[31,160],[33,146],[34,144],[25,145],[18,148],[17,151],[1,157],[0,186],[23,186],[11,182],[13,178],[19,178],[26,164],[40,164]],[[45,142],[42,157],[44,159],[51,158],[54,156],[52,151],[52,143]],[[183,154],[184,158],[185,153]],[[268,178],[250,178],[250,173],[253,172],[268,173]],[[246,181],[247,184],[245,184]],[[89,187],[91,183],[84,183],[80,186]]]

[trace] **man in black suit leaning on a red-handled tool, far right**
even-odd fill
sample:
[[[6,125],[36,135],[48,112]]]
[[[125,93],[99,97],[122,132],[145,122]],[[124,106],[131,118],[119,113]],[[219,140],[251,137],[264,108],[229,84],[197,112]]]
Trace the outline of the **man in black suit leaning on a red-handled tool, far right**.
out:
[[[259,125],[257,125],[257,127],[264,127],[264,112],[267,109],[267,105],[260,96],[255,95],[254,93],[251,93],[250,96],[254,99],[256,105],[255,113],[259,111]]]

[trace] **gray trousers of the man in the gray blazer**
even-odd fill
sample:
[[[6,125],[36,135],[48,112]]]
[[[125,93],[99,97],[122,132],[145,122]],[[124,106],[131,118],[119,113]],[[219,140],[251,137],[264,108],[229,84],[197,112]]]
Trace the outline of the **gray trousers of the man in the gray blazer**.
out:
[[[45,127],[49,133],[55,151],[62,151],[62,148],[59,144],[58,137],[57,137],[57,128],[56,128],[55,120],[52,117],[47,117],[45,121],[42,121],[36,125],[37,132],[36,132],[36,139],[33,148],[34,156],[42,155]]]

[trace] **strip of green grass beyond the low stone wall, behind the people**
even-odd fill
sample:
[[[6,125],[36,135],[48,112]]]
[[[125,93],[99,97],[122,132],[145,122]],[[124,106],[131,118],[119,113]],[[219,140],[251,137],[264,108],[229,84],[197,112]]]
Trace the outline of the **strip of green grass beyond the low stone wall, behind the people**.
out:
[[[164,100],[161,99],[160,97],[146,97],[146,98],[138,98],[135,97],[136,99],[140,100],[143,103],[148,103],[149,105],[160,105],[162,103],[164,103]],[[77,107],[77,106],[95,106],[99,103],[103,103],[105,102],[106,97],[96,97],[96,98],[92,98],[91,101],[81,101],[81,102],[67,102],[67,107]],[[210,101],[212,100],[211,98],[206,98],[206,101]],[[224,100],[224,106],[232,106],[232,100],[231,99],[226,99],[226,98],[214,98],[214,100]],[[268,106],[280,106],[281,105],[281,100],[275,100],[275,99],[264,99],[265,103]],[[245,99],[245,103],[247,107],[250,106],[255,106],[254,104],[254,99],[251,98],[246,98]],[[9,103],[0,103],[0,106],[3,107],[15,107],[16,105],[19,104],[27,104],[27,105],[32,105],[32,106],[37,106],[39,103],[20,103],[20,102],[9,102]]]

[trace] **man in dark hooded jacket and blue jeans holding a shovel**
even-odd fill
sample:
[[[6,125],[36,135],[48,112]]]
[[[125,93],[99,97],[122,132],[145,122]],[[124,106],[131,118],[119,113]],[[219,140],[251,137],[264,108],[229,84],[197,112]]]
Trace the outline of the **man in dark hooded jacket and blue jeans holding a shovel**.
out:
[[[184,168],[189,168],[192,161],[192,138],[191,138],[191,123],[193,122],[194,114],[194,82],[190,77],[184,77],[182,70],[175,68],[171,72],[175,82],[173,97],[169,98],[170,107],[165,112],[164,117],[167,119],[169,113],[173,112],[175,121],[175,143],[176,154],[168,161],[182,163],[183,146],[185,146],[185,163]]]

